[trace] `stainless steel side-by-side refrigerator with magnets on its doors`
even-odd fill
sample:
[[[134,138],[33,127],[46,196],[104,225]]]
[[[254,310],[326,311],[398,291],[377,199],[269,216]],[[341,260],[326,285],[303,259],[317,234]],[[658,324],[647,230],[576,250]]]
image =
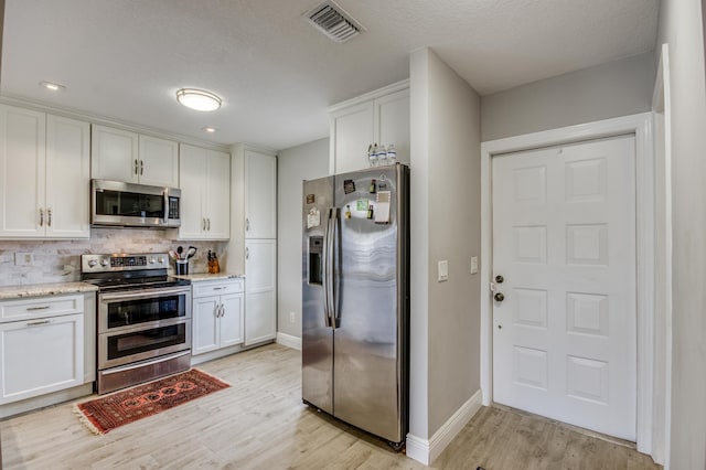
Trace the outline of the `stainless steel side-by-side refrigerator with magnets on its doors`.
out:
[[[399,449],[408,429],[409,169],[303,184],[302,397]]]

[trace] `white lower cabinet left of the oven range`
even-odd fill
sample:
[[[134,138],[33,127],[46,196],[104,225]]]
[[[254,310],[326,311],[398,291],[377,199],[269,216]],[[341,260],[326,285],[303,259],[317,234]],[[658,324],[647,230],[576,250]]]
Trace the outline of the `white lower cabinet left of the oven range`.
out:
[[[0,302],[0,311],[15,313],[0,319],[0,404],[84,383],[83,300],[82,295]],[[75,308],[55,308],[67,303]]]

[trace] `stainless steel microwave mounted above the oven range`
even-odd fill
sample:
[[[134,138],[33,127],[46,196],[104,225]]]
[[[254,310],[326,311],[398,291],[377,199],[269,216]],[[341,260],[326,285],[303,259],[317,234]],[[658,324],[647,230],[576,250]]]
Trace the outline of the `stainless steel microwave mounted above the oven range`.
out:
[[[90,180],[90,223],[124,227],[181,225],[181,190],[120,181]]]

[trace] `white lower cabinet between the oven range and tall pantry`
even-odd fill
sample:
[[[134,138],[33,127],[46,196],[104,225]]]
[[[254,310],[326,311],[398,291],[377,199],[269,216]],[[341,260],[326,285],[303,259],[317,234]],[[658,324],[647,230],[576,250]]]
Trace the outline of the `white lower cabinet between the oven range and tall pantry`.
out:
[[[243,280],[199,281],[192,288],[192,355],[242,344]]]

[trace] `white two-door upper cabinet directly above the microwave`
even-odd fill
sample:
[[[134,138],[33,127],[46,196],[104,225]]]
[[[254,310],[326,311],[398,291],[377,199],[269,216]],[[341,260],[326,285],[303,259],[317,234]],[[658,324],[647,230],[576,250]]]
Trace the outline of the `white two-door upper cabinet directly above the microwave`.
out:
[[[179,143],[94,125],[90,175],[100,180],[179,188]]]

